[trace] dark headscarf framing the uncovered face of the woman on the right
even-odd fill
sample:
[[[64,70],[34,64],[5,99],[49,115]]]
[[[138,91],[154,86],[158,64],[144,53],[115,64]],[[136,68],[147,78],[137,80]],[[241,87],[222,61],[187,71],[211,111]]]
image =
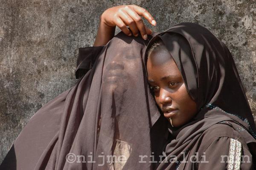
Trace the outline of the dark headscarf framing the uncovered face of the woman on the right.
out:
[[[219,122],[227,121],[246,143],[256,144],[253,115],[229,49],[208,29],[196,23],[179,23],[151,39],[147,52],[158,40],[169,50],[180,70],[186,89],[197,103],[198,112],[181,127],[170,127],[170,143],[165,154],[181,158],[201,138],[201,134]],[[256,151],[253,151],[254,154]],[[162,162],[158,169],[172,169],[175,164]],[[186,167],[189,167],[186,165]],[[191,168],[191,167],[190,167]],[[189,169],[189,168],[188,168]]]

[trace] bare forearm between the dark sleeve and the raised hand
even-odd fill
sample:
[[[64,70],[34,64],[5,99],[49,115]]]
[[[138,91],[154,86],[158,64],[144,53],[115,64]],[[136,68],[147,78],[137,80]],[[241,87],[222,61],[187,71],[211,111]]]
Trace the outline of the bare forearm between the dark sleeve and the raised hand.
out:
[[[115,35],[116,26],[108,26],[102,22],[100,18],[99,29],[95,38],[93,46],[104,46],[111,40]]]

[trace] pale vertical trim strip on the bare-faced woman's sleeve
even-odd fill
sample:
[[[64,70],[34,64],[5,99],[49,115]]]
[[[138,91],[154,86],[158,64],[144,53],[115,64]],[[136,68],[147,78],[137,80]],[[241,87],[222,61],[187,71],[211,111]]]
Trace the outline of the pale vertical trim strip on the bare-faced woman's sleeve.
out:
[[[230,150],[228,156],[227,170],[240,170],[241,149],[241,142],[230,138]]]

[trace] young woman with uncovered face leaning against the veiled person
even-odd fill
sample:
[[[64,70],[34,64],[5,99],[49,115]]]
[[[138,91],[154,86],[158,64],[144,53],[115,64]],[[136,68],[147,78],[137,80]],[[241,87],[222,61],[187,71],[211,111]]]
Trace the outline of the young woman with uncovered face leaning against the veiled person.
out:
[[[195,23],[179,23],[148,44],[148,82],[169,121],[157,170],[252,170],[256,128],[227,46]]]

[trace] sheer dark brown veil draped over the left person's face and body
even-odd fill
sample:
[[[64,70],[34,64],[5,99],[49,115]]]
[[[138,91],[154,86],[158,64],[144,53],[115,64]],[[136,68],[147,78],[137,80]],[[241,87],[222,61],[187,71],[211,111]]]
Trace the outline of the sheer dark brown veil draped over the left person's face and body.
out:
[[[151,142],[162,135],[150,135],[160,112],[145,76],[145,44],[121,32],[105,46],[80,48],[78,82],[29,120],[0,169],[153,168],[151,151],[163,146]]]

